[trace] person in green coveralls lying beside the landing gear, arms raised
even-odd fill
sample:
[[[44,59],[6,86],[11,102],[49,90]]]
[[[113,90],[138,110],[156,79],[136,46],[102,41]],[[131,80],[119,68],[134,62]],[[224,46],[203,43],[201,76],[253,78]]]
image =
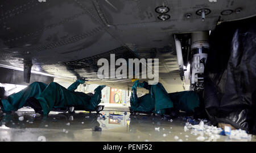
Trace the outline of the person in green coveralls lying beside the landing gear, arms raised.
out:
[[[137,97],[137,87],[149,90],[148,94]],[[163,85],[158,82],[148,85],[147,82],[134,82],[131,88],[130,105],[132,111],[143,111],[147,113],[168,114],[173,110],[182,110],[192,113],[199,107],[199,96],[193,91],[167,93]]]

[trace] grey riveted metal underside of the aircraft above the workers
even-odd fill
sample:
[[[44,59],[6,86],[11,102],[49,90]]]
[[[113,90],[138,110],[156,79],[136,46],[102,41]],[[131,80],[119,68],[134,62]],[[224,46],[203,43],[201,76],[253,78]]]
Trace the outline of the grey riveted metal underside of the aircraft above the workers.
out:
[[[170,18],[160,20],[158,6],[168,6]],[[97,60],[112,52],[116,59],[158,58],[159,81],[176,92],[184,88],[174,34],[214,30],[217,23],[254,16],[255,6],[234,0],[1,1],[0,66],[30,63],[32,71],[129,88],[127,79],[98,80]],[[201,9],[209,11],[204,21]]]

